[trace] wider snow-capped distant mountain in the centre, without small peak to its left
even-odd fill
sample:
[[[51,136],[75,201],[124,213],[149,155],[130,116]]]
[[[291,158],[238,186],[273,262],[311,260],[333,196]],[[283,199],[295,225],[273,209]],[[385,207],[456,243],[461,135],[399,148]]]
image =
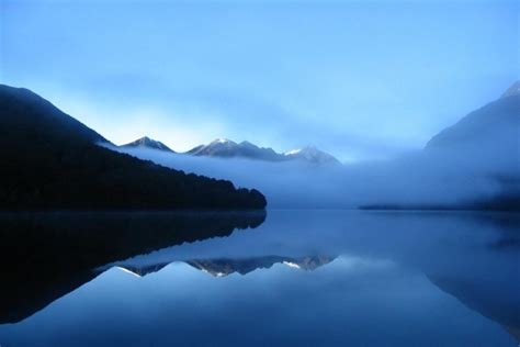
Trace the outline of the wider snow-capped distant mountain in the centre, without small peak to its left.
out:
[[[302,160],[312,164],[339,164],[330,154],[321,152],[316,147],[305,147],[285,154],[274,152],[272,148],[259,147],[250,142],[236,143],[227,138],[217,138],[208,145],[200,145],[186,152],[193,156],[208,156],[221,158],[242,157],[248,159],[267,161]]]

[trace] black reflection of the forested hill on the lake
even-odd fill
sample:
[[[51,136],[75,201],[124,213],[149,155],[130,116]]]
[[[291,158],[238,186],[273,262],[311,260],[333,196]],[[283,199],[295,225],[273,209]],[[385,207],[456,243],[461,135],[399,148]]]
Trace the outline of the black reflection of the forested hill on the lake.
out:
[[[264,220],[264,211],[1,214],[0,323],[19,322],[42,310],[92,280],[97,267],[229,236]]]

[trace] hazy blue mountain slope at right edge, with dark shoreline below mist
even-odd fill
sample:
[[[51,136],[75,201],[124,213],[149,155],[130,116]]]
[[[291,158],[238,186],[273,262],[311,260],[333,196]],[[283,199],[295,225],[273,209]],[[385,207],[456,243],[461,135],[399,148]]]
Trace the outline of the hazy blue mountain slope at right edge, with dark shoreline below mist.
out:
[[[478,197],[451,203],[381,201],[359,206],[368,210],[491,210],[520,211],[520,83],[499,99],[470,112],[426,144],[415,159],[450,179],[486,181]],[[449,174],[451,172],[451,174]],[[454,174],[456,172],[456,174]],[[444,178],[446,179],[446,178]],[[490,188],[493,187],[493,192]]]

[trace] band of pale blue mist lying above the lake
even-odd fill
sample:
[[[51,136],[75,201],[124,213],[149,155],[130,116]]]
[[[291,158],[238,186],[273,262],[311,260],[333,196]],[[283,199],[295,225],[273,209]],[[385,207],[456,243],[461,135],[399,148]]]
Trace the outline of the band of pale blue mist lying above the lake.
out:
[[[366,205],[455,205],[518,192],[520,170],[512,157],[425,150],[395,160],[343,166],[194,157],[155,149],[111,149],[185,172],[256,188],[269,208],[341,209]],[[505,188],[505,182],[508,184]]]

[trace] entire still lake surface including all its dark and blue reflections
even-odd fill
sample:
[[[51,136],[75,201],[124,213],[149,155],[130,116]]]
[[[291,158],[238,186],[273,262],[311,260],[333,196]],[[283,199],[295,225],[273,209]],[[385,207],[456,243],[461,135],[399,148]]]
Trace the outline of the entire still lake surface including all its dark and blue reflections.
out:
[[[0,226],[2,347],[520,339],[515,214],[8,214]]]

